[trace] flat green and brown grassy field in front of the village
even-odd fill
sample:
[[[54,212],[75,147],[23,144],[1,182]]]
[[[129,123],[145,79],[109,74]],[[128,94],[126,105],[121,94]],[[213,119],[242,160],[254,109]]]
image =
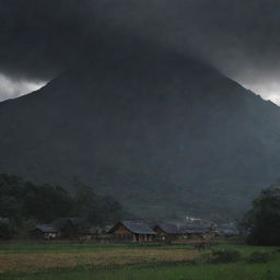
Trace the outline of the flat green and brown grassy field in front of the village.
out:
[[[241,259],[209,264],[212,250]],[[269,261],[248,262],[252,253]],[[22,280],[280,280],[280,250],[222,243],[206,250],[185,245],[0,244],[0,279]]]

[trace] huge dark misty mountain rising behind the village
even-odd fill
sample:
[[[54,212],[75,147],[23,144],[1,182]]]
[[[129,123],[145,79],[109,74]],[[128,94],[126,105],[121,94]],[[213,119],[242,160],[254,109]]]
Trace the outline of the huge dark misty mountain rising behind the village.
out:
[[[141,217],[232,219],[279,177],[280,109],[196,58],[137,45],[0,103],[0,171],[74,176]]]

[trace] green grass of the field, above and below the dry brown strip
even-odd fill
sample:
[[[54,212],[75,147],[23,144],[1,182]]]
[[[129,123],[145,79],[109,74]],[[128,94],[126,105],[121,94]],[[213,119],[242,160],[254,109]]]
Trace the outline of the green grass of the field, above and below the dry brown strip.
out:
[[[16,253],[69,253],[110,249],[147,248],[152,249],[194,249],[191,245],[129,245],[129,244],[1,244],[0,254]],[[233,264],[207,264],[203,258],[194,264],[156,262],[124,266],[84,266],[60,269],[37,270],[31,272],[7,272],[0,280],[280,280],[280,248],[247,246],[221,243],[215,249],[235,249],[242,259]],[[246,259],[254,252],[270,253],[272,258],[264,264],[249,264]],[[202,252],[203,253],[203,252]],[[24,257],[24,255],[23,255]],[[1,264],[0,264],[1,266]]]

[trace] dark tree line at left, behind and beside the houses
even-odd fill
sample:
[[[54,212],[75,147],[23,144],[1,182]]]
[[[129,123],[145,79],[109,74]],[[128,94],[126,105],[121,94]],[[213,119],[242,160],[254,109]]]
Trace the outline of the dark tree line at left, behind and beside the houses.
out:
[[[14,175],[0,175],[0,238],[25,236],[36,223],[65,217],[82,217],[91,224],[121,219],[122,206],[109,196],[96,195],[74,179],[72,191],[61,186],[35,184]]]

